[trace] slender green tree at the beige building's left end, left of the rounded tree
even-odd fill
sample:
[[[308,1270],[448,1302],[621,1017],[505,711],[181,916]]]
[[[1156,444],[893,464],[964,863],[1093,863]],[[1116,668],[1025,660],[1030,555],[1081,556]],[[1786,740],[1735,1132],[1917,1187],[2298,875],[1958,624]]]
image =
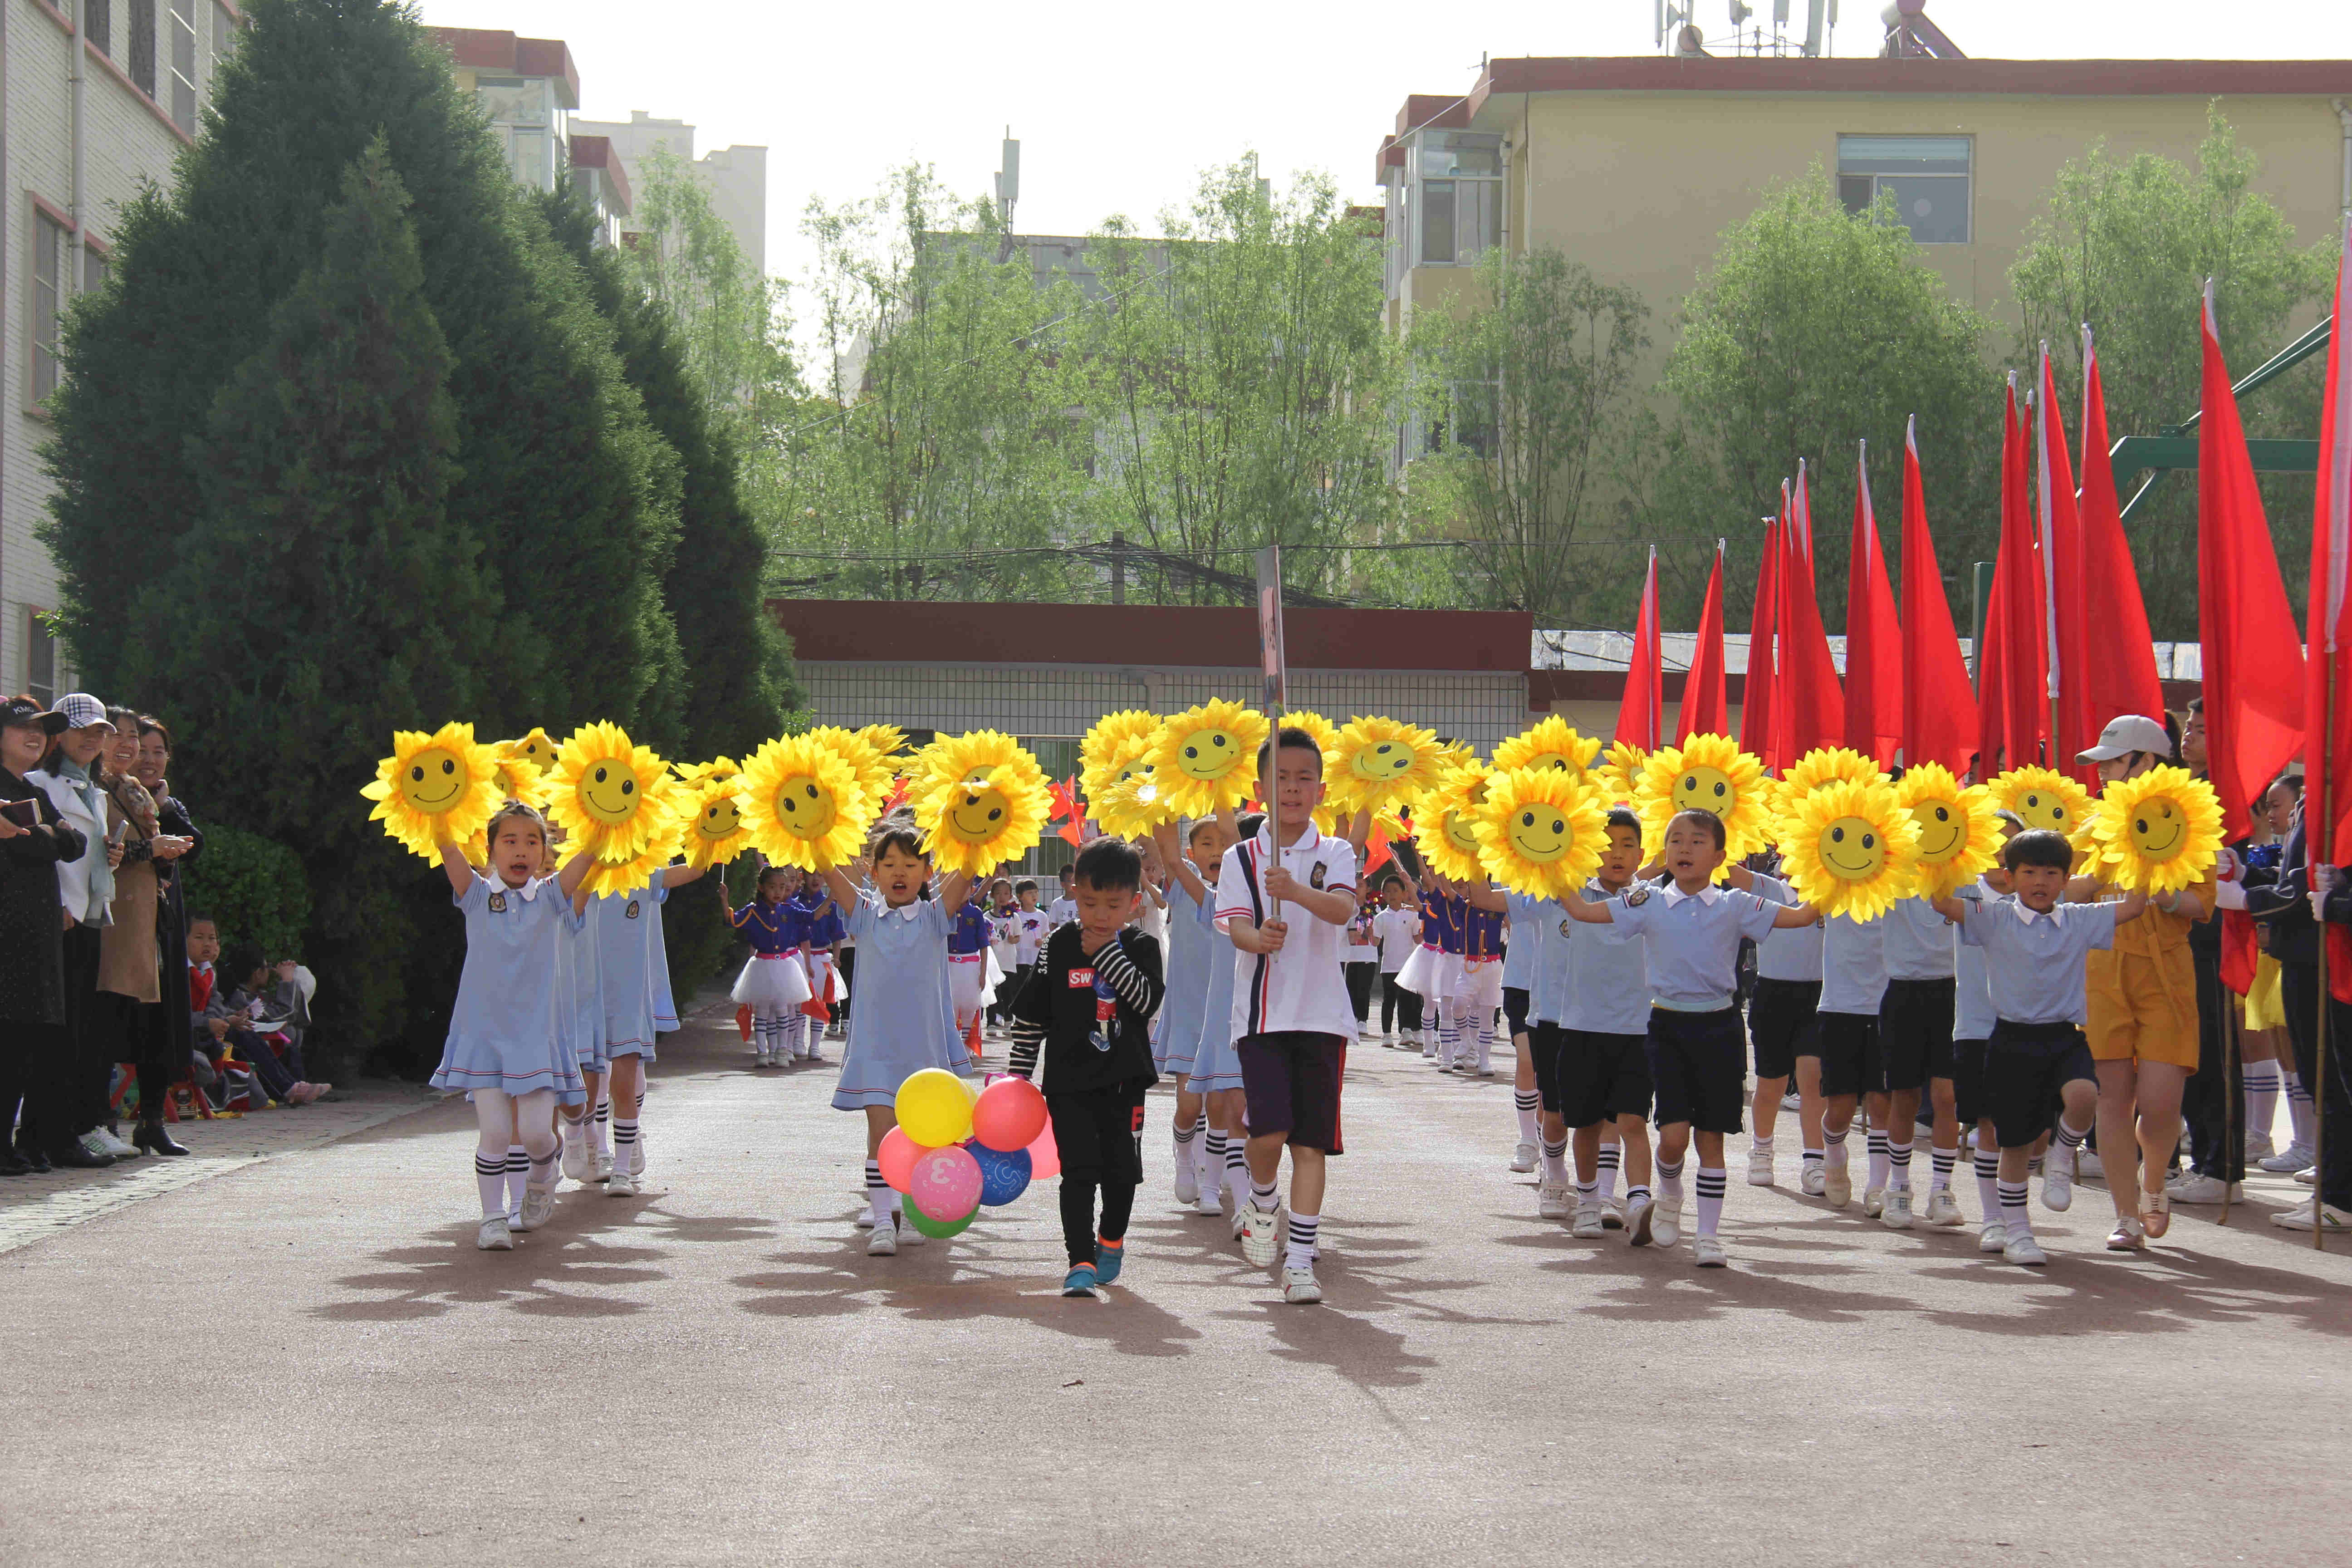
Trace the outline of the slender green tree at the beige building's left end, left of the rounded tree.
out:
[[[1421,317],[1416,353],[1449,390],[1435,454],[1411,465],[1425,505],[1458,520],[1465,597],[1573,625],[1576,545],[1606,515],[1649,308],[1555,249],[1479,259],[1486,306]]]

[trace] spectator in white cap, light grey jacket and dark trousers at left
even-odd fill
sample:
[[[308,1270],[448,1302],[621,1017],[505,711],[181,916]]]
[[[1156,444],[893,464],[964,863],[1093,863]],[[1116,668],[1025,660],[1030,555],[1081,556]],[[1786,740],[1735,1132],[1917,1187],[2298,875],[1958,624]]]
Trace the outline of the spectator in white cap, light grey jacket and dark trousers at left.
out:
[[[64,1093],[59,1105],[42,1105],[28,1131],[49,1164],[96,1171],[115,1164],[106,1138],[106,1081],[113,1077],[113,1046],[99,1018],[99,933],[115,898],[115,867],[122,844],[108,837],[106,790],[96,780],[99,752],[115,726],[106,703],[87,691],[56,698],[66,729],[49,741],[49,752],[31,783],[40,785],[56,813],[82,837],[82,853],[56,863],[56,893],[64,903],[66,1023],[59,1039],[64,1056]],[[129,1150],[129,1145],[122,1145]]]

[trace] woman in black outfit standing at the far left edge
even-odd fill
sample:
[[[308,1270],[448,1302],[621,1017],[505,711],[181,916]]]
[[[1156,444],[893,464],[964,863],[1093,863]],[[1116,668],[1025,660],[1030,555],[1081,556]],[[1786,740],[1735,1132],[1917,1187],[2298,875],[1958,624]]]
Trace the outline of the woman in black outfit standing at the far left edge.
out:
[[[38,1145],[16,1150],[16,1107],[64,1117],[71,1095],[66,1023],[66,919],[56,863],[87,844],[26,773],[40,766],[66,715],[28,696],[0,703],[0,1175],[47,1171]]]

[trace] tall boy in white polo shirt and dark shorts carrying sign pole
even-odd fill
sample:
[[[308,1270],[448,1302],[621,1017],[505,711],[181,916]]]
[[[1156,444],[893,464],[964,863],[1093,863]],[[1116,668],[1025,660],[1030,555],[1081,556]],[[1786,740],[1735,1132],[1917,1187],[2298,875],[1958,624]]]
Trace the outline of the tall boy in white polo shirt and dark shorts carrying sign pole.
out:
[[[1268,825],[1225,851],[1216,924],[1232,938],[1232,1032],[1249,1107],[1249,1213],[1242,1255],[1275,1260],[1275,1182],[1291,1152],[1282,1300],[1319,1302],[1315,1232],[1324,1161],[1341,1154],[1341,1074],[1355,1009],[1341,976],[1341,929],[1355,919],[1355,846],[1315,827],[1322,748],[1284,726],[1258,752]]]

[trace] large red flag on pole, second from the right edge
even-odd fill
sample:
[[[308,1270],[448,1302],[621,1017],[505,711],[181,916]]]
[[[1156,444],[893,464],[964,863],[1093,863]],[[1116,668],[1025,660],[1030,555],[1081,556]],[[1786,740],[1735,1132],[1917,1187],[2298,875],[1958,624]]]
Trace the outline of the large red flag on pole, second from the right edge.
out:
[[[2333,353],[2333,343],[2328,346]],[[2303,750],[2303,642],[2279,581],[2263,494],[2237,423],[2237,395],[2204,301],[2204,400],[2197,423],[2197,642],[2204,656],[2206,773],[2223,837],[2253,830],[2249,809]]]

